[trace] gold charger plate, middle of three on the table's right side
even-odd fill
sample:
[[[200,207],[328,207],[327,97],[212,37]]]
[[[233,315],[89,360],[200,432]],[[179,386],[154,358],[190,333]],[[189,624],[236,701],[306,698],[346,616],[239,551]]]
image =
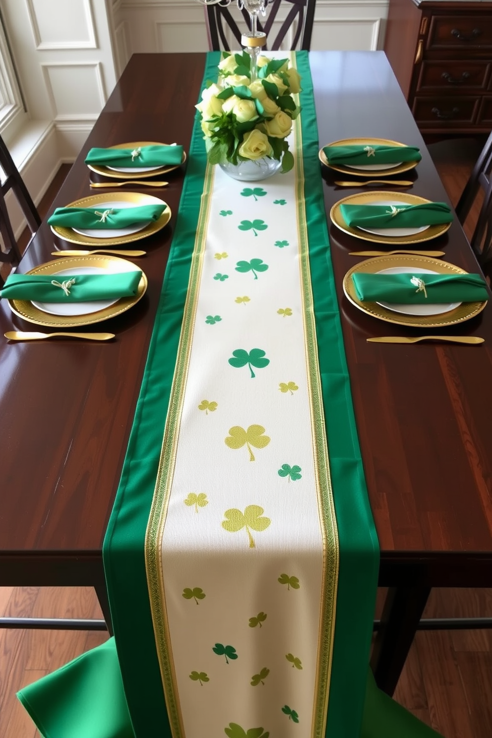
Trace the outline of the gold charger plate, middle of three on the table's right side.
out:
[[[438,235],[446,233],[449,227],[451,227],[451,223],[442,223],[440,225],[429,226],[426,230],[420,233],[414,233],[413,235],[376,235],[375,233],[369,233],[359,228],[347,226],[340,210],[340,205],[342,204],[371,205],[387,201],[401,202],[404,205],[423,205],[426,202],[432,202],[432,200],[426,200],[417,195],[409,195],[406,192],[383,192],[381,190],[377,192],[362,192],[356,195],[349,195],[336,202],[330,210],[330,218],[336,227],[344,231],[344,233],[361,238],[362,241],[372,241],[375,244],[421,244],[423,241],[430,241],[432,238],[437,238]]]

